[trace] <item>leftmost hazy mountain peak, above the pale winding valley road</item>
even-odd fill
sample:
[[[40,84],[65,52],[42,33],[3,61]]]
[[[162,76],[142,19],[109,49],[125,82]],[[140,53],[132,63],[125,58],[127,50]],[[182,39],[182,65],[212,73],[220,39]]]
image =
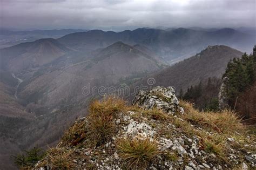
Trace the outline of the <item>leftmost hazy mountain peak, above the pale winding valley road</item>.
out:
[[[21,43],[1,50],[3,63],[12,72],[38,67],[66,55],[68,47],[53,38],[43,38],[34,42]],[[5,67],[5,66],[4,66]]]

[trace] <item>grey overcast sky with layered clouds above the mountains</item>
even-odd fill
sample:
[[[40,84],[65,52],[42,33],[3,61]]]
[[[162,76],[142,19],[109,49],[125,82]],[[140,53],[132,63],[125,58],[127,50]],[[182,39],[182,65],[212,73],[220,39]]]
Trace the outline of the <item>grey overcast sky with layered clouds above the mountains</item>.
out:
[[[15,29],[255,27],[255,0],[0,0]]]

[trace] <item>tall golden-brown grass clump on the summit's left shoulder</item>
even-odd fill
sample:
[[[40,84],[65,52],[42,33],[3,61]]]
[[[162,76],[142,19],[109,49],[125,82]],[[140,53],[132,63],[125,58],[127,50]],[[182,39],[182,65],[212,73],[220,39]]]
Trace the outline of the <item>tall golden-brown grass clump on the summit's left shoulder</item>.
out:
[[[76,146],[84,139],[99,145],[115,132],[112,123],[118,112],[126,110],[126,101],[118,97],[104,97],[92,101],[87,120],[76,121],[62,137],[60,146]]]

